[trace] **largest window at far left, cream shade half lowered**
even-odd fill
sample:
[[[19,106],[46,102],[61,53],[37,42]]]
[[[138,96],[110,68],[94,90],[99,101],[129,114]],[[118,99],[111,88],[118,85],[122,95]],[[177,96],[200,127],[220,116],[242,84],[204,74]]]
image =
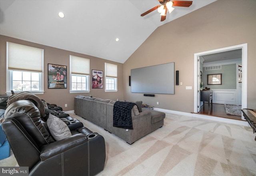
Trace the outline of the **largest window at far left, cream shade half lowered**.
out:
[[[44,50],[12,42],[6,43],[6,92],[44,92]]]

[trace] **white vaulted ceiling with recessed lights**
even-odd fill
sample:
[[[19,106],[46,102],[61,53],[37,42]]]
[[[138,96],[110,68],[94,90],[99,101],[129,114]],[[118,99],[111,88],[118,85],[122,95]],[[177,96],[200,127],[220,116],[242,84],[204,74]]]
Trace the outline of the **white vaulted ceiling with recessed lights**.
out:
[[[174,7],[160,22],[157,10],[140,16],[158,0],[0,0],[0,34],[124,63],[158,26],[214,1]]]

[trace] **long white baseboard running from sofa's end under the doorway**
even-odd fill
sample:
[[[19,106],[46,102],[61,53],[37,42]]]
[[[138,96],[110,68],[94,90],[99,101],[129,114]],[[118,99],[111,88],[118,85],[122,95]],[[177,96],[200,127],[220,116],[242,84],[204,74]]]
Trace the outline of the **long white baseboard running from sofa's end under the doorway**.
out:
[[[179,114],[179,115],[184,115],[184,116],[192,116],[192,117],[196,117],[196,118],[203,118],[203,119],[207,119],[207,120],[214,120],[214,121],[218,121],[218,122],[249,126],[247,121],[242,121],[242,120],[233,120],[233,119],[228,119],[228,118],[220,118],[220,117],[215,117],[215,116],[207,116],[207,115],[202,115],[202,114],[180,112],[180,111],[166,110],[166,109],[160,109],[160,108],[154,108],[154,110],[166,112],[166,113]]]

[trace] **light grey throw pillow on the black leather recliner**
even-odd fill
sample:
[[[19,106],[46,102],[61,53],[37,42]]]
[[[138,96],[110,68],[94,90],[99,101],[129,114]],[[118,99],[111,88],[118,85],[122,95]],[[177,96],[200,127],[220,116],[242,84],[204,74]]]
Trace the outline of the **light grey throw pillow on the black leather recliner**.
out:
[[[49,118],[46,123],[55,140],[62,140],[72,136],[68,126],[58,117],[49,114]]]

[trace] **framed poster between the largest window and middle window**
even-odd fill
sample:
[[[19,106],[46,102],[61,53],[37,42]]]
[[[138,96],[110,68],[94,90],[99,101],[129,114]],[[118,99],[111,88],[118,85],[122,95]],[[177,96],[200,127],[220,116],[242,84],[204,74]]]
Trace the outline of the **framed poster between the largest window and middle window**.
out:
[[[48,89],[67,88],[67,66],[48,64]]]

